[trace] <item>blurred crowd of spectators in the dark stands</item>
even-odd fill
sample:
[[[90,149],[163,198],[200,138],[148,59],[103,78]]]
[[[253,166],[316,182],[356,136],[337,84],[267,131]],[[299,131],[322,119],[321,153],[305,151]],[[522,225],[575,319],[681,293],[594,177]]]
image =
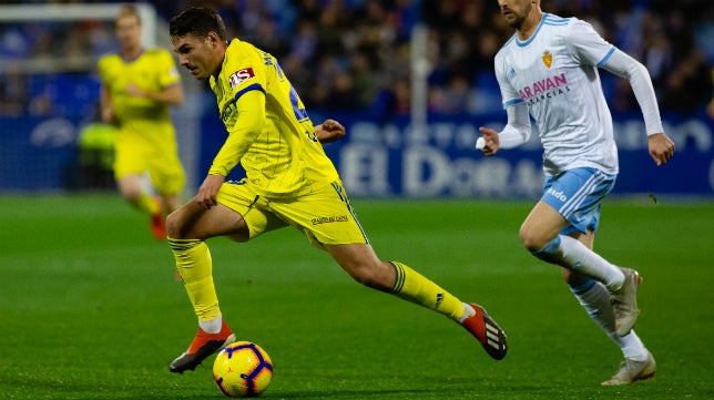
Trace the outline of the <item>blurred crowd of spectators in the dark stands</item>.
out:
[[[23,1],[28,2],[37,1]],[[496,0],[151,2],[165,20],[188,6],[217,9],[233,35],[280,61],[309,109],[361,111],[375,120],[409,114],[410,35],[422,23],[428,29],[429,110],[443,114],[501,110],[493,57],[513,31],[503,23]],[[712,102],[711,0],[543,0],[541,8],[591,22],[608,41],[645,64],[663,112],[701,112]],[[111,28],[84,22],[58,32],[48,24],[3,24],[0,58],[49,60],[61,53],[96,59],[112,47]],[[71,66],[64,65],[68,71]],[[57,106],[51,96],[44,102],[35,99],[41,90],[27,75],[12,70],[0,74],[0,114],[41,113]],[[609,73],[601,76],[614,112],[638,110],[624,80]],[[78,91],[72,79],[60,84],[67,86],[55,90],[60,96]],[[94,95],[91,82],[79,88],[74,95]]]

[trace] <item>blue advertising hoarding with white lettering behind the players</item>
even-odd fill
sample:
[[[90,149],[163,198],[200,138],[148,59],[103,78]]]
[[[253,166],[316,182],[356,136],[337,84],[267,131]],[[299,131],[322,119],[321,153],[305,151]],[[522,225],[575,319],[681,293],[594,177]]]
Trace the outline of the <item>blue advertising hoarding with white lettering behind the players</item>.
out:
[[[226,133],[207,107],[198,124],[197,187],[223,144]],[[313,113],[347,127],[347,137],[325,145],[353,196],[532,198],[542,184],[537,133],[523,146],[486,157],[476,151],[478,126],[501,129],[502,114],[434,117],[424,132],[408,120],[384,124],[360,114]],[[0,191],[73,188],[81,121],[64,117],[0,117]],[[714,121],[706,115],[664,116],[665,132],[676,145],[675,156],[656,167],[647,154],[641,115],[616,115],[615,136],[620,176],[613,193],[655,195],[714,195]],[[185,150],[184,150],[185,151]],[[238,168],[236,168],[238,170]],[[231,177],[239,177],[241,171]]]

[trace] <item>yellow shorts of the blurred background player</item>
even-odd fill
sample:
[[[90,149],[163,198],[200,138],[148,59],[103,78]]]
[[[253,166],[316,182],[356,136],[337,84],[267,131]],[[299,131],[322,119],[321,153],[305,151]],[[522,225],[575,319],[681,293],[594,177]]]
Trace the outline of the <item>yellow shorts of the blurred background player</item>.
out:
[[[175,153],[149,152],[129,145],[116,145],[114,177],[119,181],[131,174],[149,173],[152,186],[160,194],[178,194],[186,184],[186,176]]]

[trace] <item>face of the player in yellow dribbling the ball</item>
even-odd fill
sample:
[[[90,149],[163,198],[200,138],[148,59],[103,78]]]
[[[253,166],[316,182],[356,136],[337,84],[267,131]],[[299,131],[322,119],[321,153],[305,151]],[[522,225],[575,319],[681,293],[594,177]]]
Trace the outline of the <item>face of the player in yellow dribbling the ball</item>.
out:
[[[178,64],[185,66],[195,79],[208,79],[221,66],[223,57],[216,53],[212,37],[196,38],[188,33],[171,37],[171,42],[178,54]]]

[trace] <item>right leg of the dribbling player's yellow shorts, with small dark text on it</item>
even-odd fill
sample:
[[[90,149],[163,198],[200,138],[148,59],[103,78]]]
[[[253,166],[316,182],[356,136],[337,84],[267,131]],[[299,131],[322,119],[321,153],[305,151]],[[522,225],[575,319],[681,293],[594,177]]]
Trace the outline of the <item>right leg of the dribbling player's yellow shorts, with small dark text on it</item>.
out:
[[[340,182],[289,202],[272,201],[269,208],[305,233],[315,247],[369,243]]]

